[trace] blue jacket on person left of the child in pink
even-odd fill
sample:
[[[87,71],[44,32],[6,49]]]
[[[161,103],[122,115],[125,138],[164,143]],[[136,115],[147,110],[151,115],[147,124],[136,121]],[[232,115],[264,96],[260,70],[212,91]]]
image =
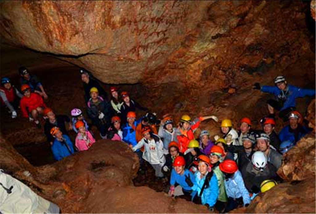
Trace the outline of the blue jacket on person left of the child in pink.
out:
[[[74,147],[67,135],[63,135],[65,141],[60,142],[56,138],[52,145],[52,152],[55,160],[63,159],[64,157],[74,153]],[[67,144],[67,145],[66,145]]]

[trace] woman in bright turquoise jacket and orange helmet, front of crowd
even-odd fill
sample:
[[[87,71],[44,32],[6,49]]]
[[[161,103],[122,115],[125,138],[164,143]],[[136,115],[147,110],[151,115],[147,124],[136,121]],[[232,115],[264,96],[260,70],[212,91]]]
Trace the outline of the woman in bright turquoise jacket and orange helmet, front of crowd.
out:
[[[199,164],[198,171],[194,174],[195,183],[186,179],[189,186],[192,185],[192,200],[194,203],[206,205],[210,211],[214,211],[213,206],[219,194],[217,178],[211,170],[209,157],[202,154],[197,159]]]

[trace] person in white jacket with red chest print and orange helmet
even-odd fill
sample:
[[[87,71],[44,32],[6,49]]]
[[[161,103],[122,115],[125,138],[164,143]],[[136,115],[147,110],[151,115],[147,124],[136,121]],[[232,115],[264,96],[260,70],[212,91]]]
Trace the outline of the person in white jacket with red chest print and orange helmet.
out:
[[[161,168],[166,162],[163,155],[163,143],[158,135],[155,135],[149,126],[142,129],[143,138],[132,147],[133,152],[144,146],[143,159],[148,161],[155,169],[155,176],[162,178],[164,175]]]

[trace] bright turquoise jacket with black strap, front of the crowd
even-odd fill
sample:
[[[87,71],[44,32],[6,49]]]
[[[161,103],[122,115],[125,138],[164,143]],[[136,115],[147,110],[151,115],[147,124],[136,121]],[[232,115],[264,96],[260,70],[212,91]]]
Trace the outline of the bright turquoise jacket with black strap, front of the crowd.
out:
[[[194,176],[195,176],[195,183],[192,187],[192,200],[196,194],[200,195],[201,189],[203,187],[206,175],[201,179],[200,178],[201,173],[197,171]],[[204,188],[203,194],[201,196],[201,201],[202,204],[208,204],[210,206],[214,206],[217,198],[218,198],[219,190],[218,190],[218,184],[217,184],[217,178],[215,173],[213,173],[213,176],[210,179],[209,182],[209,187]]]

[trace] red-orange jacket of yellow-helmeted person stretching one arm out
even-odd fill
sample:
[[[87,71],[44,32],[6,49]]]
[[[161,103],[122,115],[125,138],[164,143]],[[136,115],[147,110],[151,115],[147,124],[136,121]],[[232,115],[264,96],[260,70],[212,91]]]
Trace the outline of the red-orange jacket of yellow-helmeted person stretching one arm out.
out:
[[[179,143],[180,153],[184,153],[188,149],[189,142],[194,139],[193,133],[195,132],[197,127],[200,125],[200,123],[201,123],[201,119],[199,118],[194,124],[190,126],[189,130],[187,130],[186,133],[183,132],[180,127],[178,128],[177,139]]]

